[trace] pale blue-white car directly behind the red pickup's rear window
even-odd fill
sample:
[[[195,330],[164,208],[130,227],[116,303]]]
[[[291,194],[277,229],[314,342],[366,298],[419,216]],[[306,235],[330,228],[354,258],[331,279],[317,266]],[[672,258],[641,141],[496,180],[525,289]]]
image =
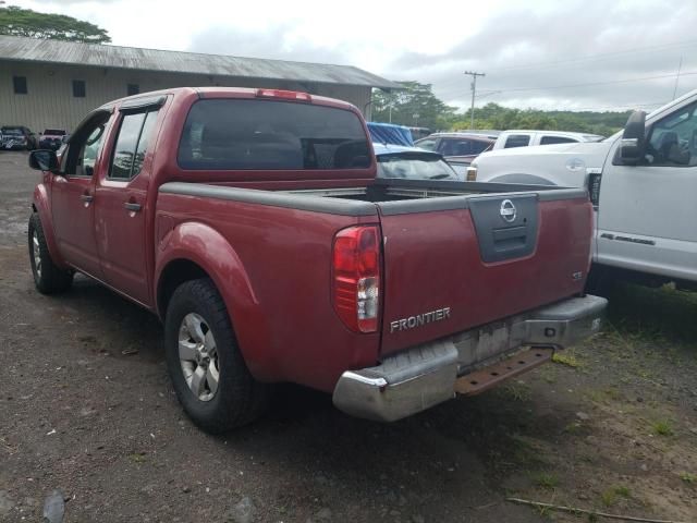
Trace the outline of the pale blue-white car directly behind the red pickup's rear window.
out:
[[[378,178],[405,180],[461,180],[438,153],[399,145],[372,144],[378,160]]]

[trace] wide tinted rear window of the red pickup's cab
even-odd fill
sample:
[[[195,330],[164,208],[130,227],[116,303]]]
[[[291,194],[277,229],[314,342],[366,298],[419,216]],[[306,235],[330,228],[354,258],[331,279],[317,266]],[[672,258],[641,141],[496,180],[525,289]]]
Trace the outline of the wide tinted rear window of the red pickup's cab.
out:
[[[365,129],[347,110],[271,100],[199,100],[178,161],[191,170],[356,169],[371,163]]]

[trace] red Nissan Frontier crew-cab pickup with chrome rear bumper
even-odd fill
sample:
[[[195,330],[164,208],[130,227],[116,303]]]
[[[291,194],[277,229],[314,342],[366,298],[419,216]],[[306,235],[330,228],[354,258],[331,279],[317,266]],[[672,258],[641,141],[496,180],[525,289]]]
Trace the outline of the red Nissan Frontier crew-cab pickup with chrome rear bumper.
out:
[[[606,301],[583,294],[585,191],[378,181],[366,124],[342,101],[137,95],[29,165],[42,171],[37,289],[65,291],[80,271],[159,315],[173,387],[209,431],[253,421],[280,381],[399,419],[600,327]]]

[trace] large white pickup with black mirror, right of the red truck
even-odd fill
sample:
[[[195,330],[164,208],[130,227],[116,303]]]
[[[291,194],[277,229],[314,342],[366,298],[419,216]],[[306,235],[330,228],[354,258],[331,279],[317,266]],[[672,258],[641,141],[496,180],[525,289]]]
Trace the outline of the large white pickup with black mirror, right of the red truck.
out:
[[[467,180],[588,187],[596,283],[697,289],[697,90],[602,142],[485,153]]]

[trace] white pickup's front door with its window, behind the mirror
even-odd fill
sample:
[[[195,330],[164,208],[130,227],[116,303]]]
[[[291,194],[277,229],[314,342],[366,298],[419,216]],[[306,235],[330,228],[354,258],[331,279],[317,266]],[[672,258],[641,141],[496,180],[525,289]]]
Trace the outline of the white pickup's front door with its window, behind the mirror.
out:
[[[669,278],[697,277],[697,104],[647,130],[646,158],[602,174],[598,262]]]

